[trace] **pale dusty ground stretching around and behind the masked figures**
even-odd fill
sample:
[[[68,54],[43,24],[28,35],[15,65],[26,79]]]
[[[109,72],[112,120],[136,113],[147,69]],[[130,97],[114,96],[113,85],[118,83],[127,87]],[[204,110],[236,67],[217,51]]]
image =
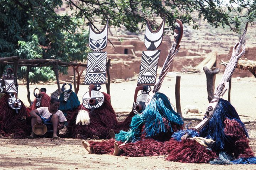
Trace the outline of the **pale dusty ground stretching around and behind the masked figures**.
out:
[[[202,110],[207,106],[206,78],[204,74],[169,73],[161,87],[171,103],[175,106],[175,79],[181,76],[181,107],[184,112],[187,104],[197,106]],[[222,74],[217,75],[216,84],[219,83]],[[118,120],[122,120],[130,112],[133,103],[133,94],[136,81],[124,81],[111,84],[112,105],[117,112]],[[245,77],[237,81],[232,79],[231,103],[237,109],[242,121],[255,121],[256,118],[256,79]],[[57,89],[56,85],[31,85],[34,87],[46,87],[47,93]],[[88,90],[88,86],[81,85],[78,94],[82,95]],[[105,87],[101,91],[106,91]],[[28,105],[26,87],[19,86],[19,98]],[[31,96],[31,99],[34,97]],[[223,97],[227,99],[227,93]],[[202,114],[188,113],[185,118],[202,118]],[[198,122],[193,121],[193,124]],[[188,124],[186,121],[185,124]],[[256,152],[255,123],[248,123],[246,127],[250,135],[250,146]],[[248,169],[255,170],[256,165],[210,165],[210,164],[185,164],[168,162],[165,156],[158,157],[115,157],[113,155],[88,154],[81,145],[81,140],[62,138],[37,138],[37,139],[0,139],[0,169]]]

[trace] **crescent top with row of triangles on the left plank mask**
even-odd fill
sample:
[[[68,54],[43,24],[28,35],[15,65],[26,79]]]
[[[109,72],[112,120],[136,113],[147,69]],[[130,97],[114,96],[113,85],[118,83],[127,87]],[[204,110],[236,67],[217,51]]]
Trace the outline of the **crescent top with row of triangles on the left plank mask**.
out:
[[[108,33],[108,21],[101,32],[95,32],[95,30],[89,27],[89,47],[92,50],[102,50],[107,46],[107,33]]]

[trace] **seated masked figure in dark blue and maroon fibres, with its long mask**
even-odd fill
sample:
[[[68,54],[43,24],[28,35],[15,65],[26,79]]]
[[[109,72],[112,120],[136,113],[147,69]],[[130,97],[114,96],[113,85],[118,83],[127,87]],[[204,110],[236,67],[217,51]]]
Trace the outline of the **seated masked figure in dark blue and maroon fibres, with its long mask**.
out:
[[[233,48],[230,61],[215,90],[213,100],[208,104],[204,119],[193,129],[179,131],[173,135],[176,142],[173,141],[168,146],[167,160],[184,163],[208,163],[212,160],[210,162],[212,164],[256,163],[249,147],[244,123],[241,122],[235,108],[228,101],[220,98],[228,88],[228,81],[234,73],[239,58],[245,53],[246,30],[247,24],[240,42]],[[185,134],[189,139],[181,141],[181,137]],[[194,141],[197,137],[201,137],[204,146]],[[178,154],[174,157],[174,153]]]

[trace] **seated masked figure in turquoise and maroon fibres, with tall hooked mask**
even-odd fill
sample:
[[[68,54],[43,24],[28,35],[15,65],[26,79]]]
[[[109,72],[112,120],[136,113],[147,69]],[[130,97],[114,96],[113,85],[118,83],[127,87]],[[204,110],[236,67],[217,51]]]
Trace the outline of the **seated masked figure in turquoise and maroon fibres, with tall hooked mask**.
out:
[[[179,51],[183,27],[181,21],[176,22],[174,44],[154,85],[153,94],[145,100],[144,111],[132,118],[129,131],[120,131],[116,135],[116,141],[82,141],[87,151],[89,147],[90,153],[110,154],[114,151],[114,155],[130,157],[167,154],[165,141],[171,138],[173,132],[182,129],[183,124],[180,115],[172,109],[169,99],[159,92],[172,60]],[[120,145],[121,143],[123,145]],[[119,154],[116,154],[117,148],[120,150]]]

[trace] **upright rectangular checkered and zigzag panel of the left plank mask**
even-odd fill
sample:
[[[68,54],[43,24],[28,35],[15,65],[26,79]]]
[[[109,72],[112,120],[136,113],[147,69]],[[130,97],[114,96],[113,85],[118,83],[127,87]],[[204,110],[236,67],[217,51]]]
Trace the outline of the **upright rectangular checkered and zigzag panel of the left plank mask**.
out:
[[[89,52],[85,84],[105,84],[106,83],[106,62],[107,52]]]

